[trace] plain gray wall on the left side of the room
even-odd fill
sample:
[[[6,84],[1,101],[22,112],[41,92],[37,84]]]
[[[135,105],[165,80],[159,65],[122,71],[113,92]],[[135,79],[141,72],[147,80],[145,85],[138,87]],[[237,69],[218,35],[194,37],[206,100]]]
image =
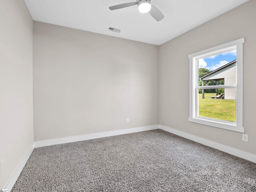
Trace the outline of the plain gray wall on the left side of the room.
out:
[[[3,189],[34,142],[33,21],[23,0],[0,0],[0,174]]]

